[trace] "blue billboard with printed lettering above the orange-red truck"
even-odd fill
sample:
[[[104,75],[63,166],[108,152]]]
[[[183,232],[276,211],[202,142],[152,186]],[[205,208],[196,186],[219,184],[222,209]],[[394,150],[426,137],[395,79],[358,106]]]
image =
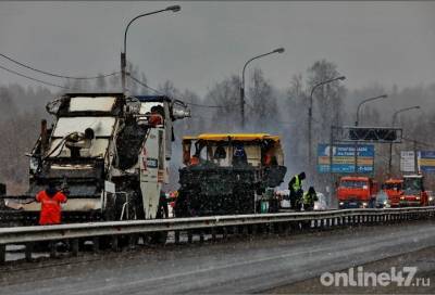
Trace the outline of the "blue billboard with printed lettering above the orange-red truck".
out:
[[[334,174],[355,172],[355,144],[334,144],[333,148],[333,168]],[[320,143],[318,145],[318,171],[320,174],[330,172],[330,144]],[[358,144],[358,166],[357,172],[371,174],[374,165],[374,145]]]

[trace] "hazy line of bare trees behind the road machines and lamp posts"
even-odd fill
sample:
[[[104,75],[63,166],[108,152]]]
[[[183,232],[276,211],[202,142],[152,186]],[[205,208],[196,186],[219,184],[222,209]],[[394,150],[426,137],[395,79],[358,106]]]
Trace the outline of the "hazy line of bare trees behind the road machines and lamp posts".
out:
[[[269,132],[283,138],[287,176],[307,171],[308,181],[323,190],[328,178],[315,172],[315,165],[308,167],[308,106],[312,87],[320,81],[343,75],[338,66],[330,61],[314,62],[304,72],[289,77],[285,89],[274,86],[261,68],[252,68],[246,82],[246,128],[240,130],[240,77],[228,75],[209,88],[206,94],[199,95],[192,89],[182,89],[166,80],[158,87],[147,85],[147,76],[138,67],[128,65],[128,73],[140,84],[127,79],[127,89],[132,94],[166,94],[186,102],[191,110],[191,118],[176,121],[174,146],[175,157],[172,161],[173,176],[171,188],[177,187],[177,168],[181,161],[181,138],[187,134],[203,132]],[[102,77],[95,80],[66,80],[64,86],[71,92],[119,92],[120,76]],[[69,92],[69,91],[66,91]],[[346,82],[334,81],[316,89],[313,93],[313,155],[316,144],[328,143],[331,125],[352,125],[356,108],[363,99],[387,93],[388,99],[366,104],[361,112],[361,126],[390,126],[393,113],[402,107],[420,105],[421,110],[403,113],[397,125],[403,128],[407,138],[396,144],[395,153],[400,150],[412,150],[418,141],[419,150],[435,150],[435,138],[430,130],[435,127],[435,82],[411,88],[387,89],[374,84],[362,89],[349,90]],[[45,112],[47,102],[60,95],[46,87],[23,87],[21,85],[0,85],[0,182],[7,182],[9,192],[22,193],[27,185],[28,158],[24,156],[33,148],[39,136],[41,118],[48,118]],[[382,181],[386,177],[389,146],[376,144],[375,177]],[[314,161],[315,164],[315,161]],[[394,157],[394,174],[399,175],[399,158]],[[288,178],[287,177],[287,178]],[[432,179],[432,178],[431,178]],[[434,182],[431,180],[432,183]]]

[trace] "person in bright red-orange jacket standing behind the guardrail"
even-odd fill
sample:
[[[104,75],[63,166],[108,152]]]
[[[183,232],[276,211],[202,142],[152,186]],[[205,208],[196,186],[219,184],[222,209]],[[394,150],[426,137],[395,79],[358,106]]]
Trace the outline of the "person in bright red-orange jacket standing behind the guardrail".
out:
[[[46,190],[40,191],[36,202],[41,203],[40,226],[61,223],[61,203],[66,203],[66,196],[55,189],[54,183],[50,182]]]

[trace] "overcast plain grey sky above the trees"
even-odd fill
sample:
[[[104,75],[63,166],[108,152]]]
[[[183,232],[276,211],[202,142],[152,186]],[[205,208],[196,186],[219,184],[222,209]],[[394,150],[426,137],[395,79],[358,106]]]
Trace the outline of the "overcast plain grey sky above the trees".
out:
[[[0,52],[55,73],[110,73],[127,22],[170,4],[182,11],[137,21],[127,39],[152,86],[170,79],[204,94],[281,46],[284,54],[252,64],[279,88],[319,59],[335,62],[350,89],[435,81],[435,2],[0,2]],[[15,81],[28,84],[0,69],[0,84]]]

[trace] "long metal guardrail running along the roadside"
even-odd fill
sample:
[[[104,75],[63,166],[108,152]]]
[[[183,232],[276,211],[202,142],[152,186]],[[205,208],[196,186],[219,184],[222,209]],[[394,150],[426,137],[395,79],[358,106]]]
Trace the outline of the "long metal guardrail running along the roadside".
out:
[[[78,252],[78,240],[88,239],[99,244],[98,238],[111,238],[112,248],[117,247],[119,236],[156,232],[175,232],[175,242],[179,242],[179,232],[188,233],[191,242],[192,231],[210,230],[215,239],[216,230],[226,234],[244,234],[258,231],[288,232],[295,229],[323,229],[343,226],[394,222],[411,219],[433,218],[435,206],[387,209],[343,209],[331,211],[278,213],[256,215],[211,216],[194,218],[130,220],[114,222],[70,223],[59,226],[0,228],[0,262],[5,260],[5,246],[10,244],[26,245],[26,258],[32,259],[33,245],[38,242],[70,240],[73,242],[73,254]],[[260,229],[262,227],[262,229]],[[228,230],[231,229],[231,230]],[[178,240],[178,241],[177,241]],[[200,236],[203,241],[203,235]]]

